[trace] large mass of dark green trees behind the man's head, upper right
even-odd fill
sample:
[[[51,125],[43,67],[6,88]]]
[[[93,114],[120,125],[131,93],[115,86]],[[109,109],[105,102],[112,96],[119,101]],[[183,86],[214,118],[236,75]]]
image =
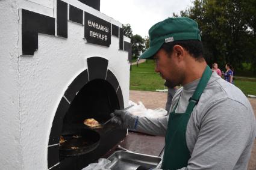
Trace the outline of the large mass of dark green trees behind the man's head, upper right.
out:
[[[251,62],[255,68],[255,0],[195,0],[180,15],[198,22],[209,64],[217,62],[223,67],[229,62],[242,68],[242,62]]]

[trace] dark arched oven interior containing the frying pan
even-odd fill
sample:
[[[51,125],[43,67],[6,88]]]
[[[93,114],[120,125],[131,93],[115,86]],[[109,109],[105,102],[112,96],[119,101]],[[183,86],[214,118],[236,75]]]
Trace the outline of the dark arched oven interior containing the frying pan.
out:
[[[94,79],[81,88],[63,118],[61,138],[66,144],[59,148],[61,169],[82,169],[125,137],[126,130],[111,122],[99,128],[84,125],[87,118],[105,123],[115,109],[120,109],[117,94],[106,80]]]

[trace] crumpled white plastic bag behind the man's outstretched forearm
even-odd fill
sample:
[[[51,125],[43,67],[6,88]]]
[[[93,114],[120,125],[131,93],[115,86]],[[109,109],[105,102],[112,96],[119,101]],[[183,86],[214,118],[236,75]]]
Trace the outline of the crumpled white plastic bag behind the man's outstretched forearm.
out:
[[[129,105],[134,105],[128,111],[138,117],[164,117],[167,115],[167,111],[163,108],[157,109],[146,109],[142,102],[138,102],[139,105],[131,100],[129,100]]]

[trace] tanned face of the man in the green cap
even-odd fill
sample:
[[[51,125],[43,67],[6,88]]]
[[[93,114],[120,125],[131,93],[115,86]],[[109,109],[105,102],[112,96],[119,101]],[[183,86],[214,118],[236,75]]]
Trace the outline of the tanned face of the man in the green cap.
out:
[[[175,52],[168,54],[165,50],[160,49],[154,55],[154,58],[155,72],[160,73],[160,76],[169,81],[173,86],[180,85],[182,72],[175,57]]]

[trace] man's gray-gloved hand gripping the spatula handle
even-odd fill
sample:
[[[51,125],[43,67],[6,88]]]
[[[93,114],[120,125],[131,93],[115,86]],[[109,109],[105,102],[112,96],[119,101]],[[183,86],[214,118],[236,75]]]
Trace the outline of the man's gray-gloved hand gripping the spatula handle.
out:
[[[128,111],[116,110],[110,114],[112,118],[111,122],[118,124],[122,129],[136,129],[137,118],[135,115]]]

